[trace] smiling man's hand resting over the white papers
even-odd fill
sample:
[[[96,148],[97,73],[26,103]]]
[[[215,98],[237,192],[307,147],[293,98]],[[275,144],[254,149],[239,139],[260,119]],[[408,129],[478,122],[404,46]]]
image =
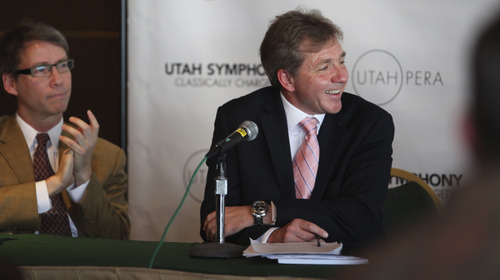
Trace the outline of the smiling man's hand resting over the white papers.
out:
[[[284,227],[275,230],[271,236],[269,236],[267,242],[309,242],[315,240],[316,235],[327,238],[328,232],[314,223],[302,219],[295,219]]]

